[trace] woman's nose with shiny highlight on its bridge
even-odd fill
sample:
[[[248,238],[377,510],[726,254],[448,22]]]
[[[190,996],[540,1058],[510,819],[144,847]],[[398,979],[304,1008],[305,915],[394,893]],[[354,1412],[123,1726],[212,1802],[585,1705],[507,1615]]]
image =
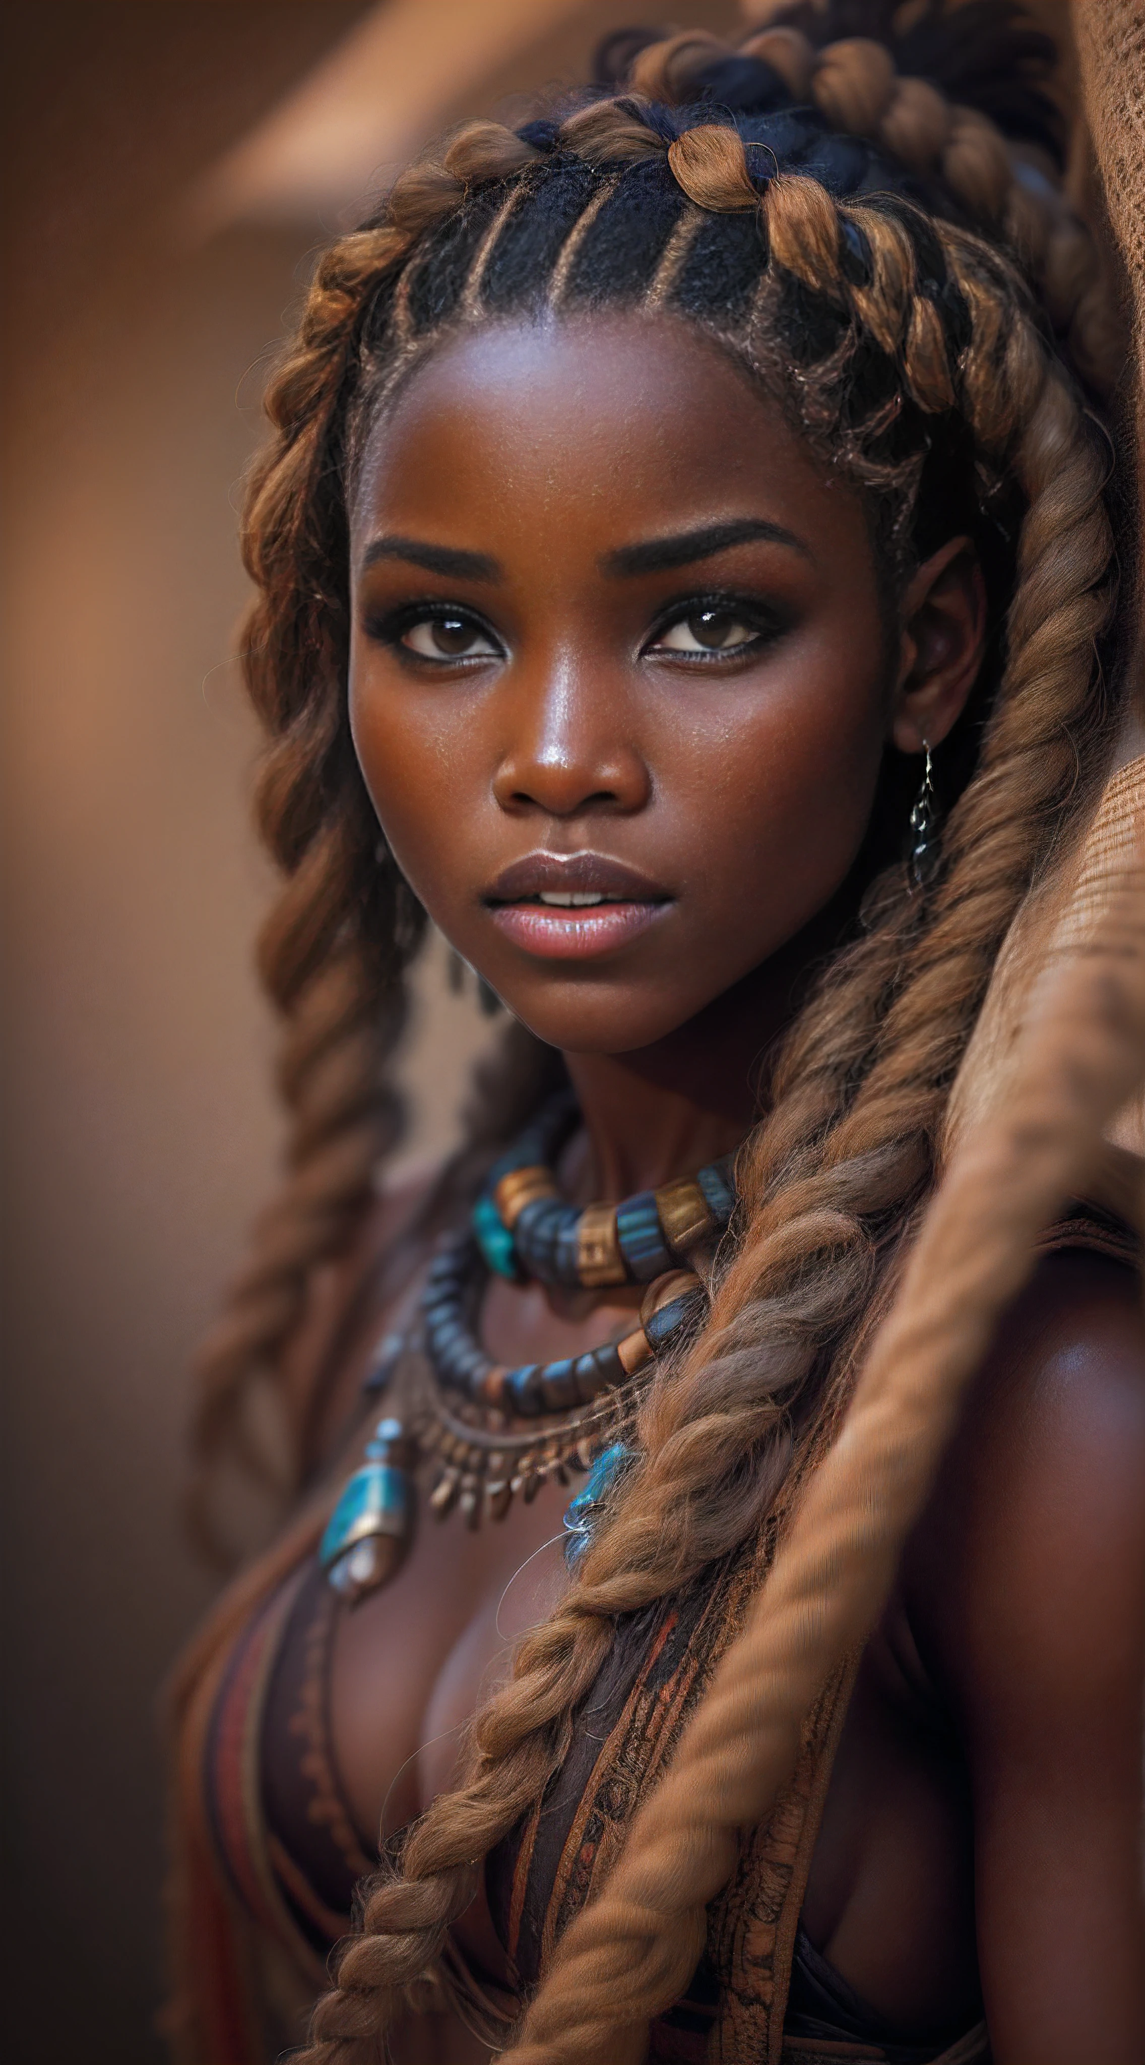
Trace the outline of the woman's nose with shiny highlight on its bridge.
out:
[[[510,686],[510,684],[505,684]],[[631,704],[607,667],[555,661],[510,688],[510,739],[493,776],[501,809],[627,816],[652,795]]]

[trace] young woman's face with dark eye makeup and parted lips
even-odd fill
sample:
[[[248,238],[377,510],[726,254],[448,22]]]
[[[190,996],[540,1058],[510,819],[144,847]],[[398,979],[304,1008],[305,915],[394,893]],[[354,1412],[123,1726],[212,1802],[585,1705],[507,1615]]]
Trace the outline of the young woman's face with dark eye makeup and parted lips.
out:
[[[662,1039],[829,902],[885,644],[856,496],[683,324],[479,330],[373,434],[361,768],[433,921],[557,1047]]]

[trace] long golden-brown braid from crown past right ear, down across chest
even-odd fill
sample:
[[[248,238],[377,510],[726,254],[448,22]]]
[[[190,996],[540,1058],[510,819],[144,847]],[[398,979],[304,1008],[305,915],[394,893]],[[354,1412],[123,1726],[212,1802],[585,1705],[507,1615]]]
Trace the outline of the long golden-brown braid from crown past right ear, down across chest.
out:
[[[693,200],[704,190],[712,211],[743,206],[743,163],[726,130],[710,145],[691,130],[673,161]],[[885,884],[871,935],[838,962],[796,1028],[774,1115],[743,1156],[745,1225],[714,1286],[710,1326],[658,1379],[640,1425],[644,1460],[602,1518],[582,1580],[524,1640],[512,1683],[477,1718],[468,1782],[413,1830],[404,1875],[367,1892],[338,1989],[316,2009],[309,2065],[373,2057],[402,1991],[472,1898],[481,1856],[559,1764],[617,1617],[693,1582],[794,1495],[809,1427],[831,1390],[846,1394],[887,1293],[889,1229],[902,1239],[930,1181],[945,1094],[992,956],[1071,801],[1085,799],[1102,748],[1093,642],[1108,611],[1104,469],[1017,275],[978,237],[930,225],[970,320],[959,363],[945,349],[937,368],[933,328],[912,322],[922,293],[912,209],[891,211],[889,256],[856,287],[842,229],[852,223],[873,248],[887,206],[838,206],[823,190],[813,202],[813,186],[784,176],[765,190],[774,266],[790,252],[805,285],[850,306],[856,330],[881,326],[897,339],[920,411],[949,407],[943,396],[957,388],[978,463],[988,477],[1011,469],[1029,504],[996,710],[978,774],[951,814],[947,876],[930,907],[918,911],[902,884]],[[813,219],[821,235],[809,246]],[[914,368],[912,339],[926,361]],[[607,2020],[607,2003],[596,2009]]]

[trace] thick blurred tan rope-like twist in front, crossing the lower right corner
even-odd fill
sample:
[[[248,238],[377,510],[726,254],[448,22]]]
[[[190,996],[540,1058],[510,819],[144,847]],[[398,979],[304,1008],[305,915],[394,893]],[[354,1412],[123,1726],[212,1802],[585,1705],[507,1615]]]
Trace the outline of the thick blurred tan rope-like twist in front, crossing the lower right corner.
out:
[[[520,2065],[646,2055],[650,2020],[695,1968],[739,1832],[767,1815],[803,1714],[885,1605],[959,1396],[1029,1276],[1038,1233],[1081,1189],[1102,1127],[1143,1076],[1145,851],[1102,938],[1042,983],[1007,1111],[955,1154],[846,1437],[813,1479],[609,1885],[557,1945],[514,2044]]]

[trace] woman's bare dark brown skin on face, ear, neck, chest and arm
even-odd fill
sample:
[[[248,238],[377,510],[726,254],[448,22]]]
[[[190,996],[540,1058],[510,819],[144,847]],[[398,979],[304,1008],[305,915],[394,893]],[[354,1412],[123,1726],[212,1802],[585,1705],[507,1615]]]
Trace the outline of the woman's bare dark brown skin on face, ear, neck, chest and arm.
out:
[[[770,535],[631,560],[728,525]],[[732,1148],[852,904],[887,743],[937,745],[974,684],[966,541],[912,580],[887,648],[850,489],[714,347],[617,318],[435,355],[373,434],[353,564],[365,781],[441,931],[567,1055],[586,1121],[569,1194],[619,1198]],[[611,946],[615,913],[522,917],[516,890],[505,911],[499,878],[538,853],[557,873],[602,857],[580,888],[637,871]],[[619,1303],[497,1282],[485,1342],[505,1361],[578,1353]],[[811,1871],[813,1941],[906,2036],[957,2032],[982,1989],[996,2065],[1145,2057],[1143,1479],[1128,1274],[1050,1260],[904,1561]],[[332,1724],[363,1832],[386,1797],[392,1830],[450,1782],[501,1635],[561,1582],[549,1549],[497,1633],[563,1497],[479,1536],[423,1528],[394,1586],[342,1617]],[[495,1968],[485,1914],[466,1937]],[[400,2055],[481,2051],[408,2030]]]

